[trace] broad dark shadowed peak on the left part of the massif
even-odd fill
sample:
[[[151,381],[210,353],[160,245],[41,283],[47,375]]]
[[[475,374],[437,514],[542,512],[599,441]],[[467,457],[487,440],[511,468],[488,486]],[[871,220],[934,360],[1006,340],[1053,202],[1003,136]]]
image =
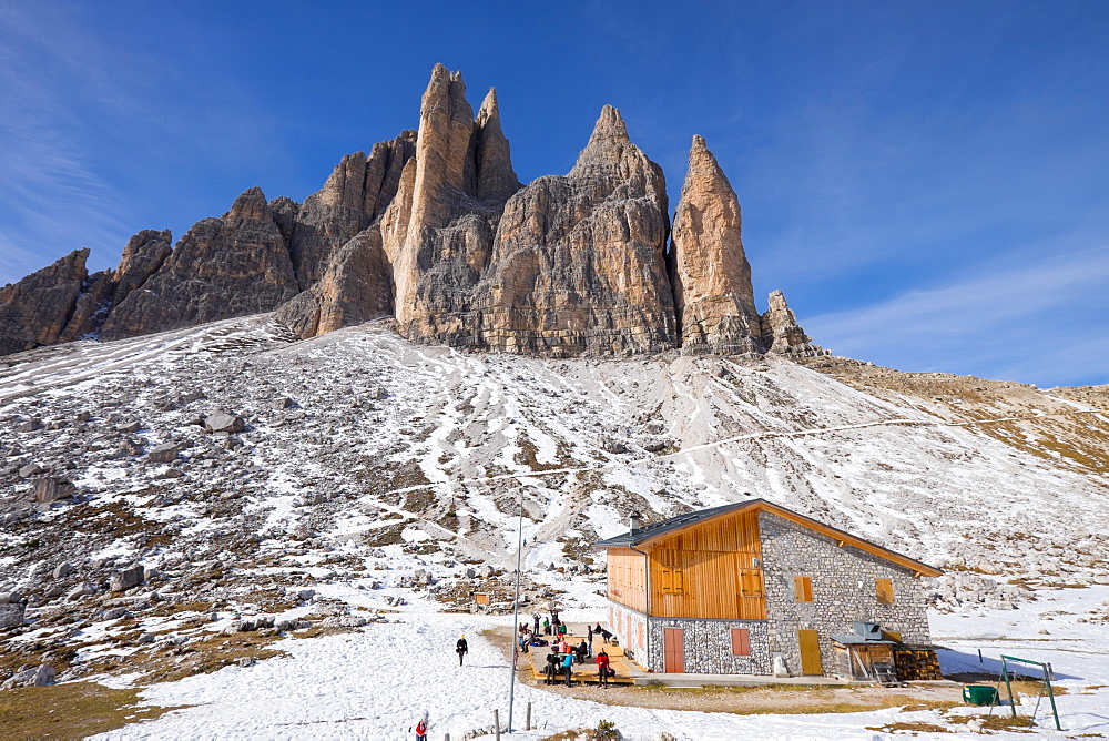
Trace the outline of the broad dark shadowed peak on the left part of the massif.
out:
[[[142,291],[114,306],[102,339],[271,312],[297,293],[288,251],[261,189],[181,238]]]

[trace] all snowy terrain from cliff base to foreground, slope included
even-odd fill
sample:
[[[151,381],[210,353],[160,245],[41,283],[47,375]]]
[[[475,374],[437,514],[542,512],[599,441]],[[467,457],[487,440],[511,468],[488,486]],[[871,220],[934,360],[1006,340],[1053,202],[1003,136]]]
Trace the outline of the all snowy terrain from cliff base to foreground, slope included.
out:
[[[0,591],[27,595],[34,621],[8,648],[78,641],[63,679],[119,676],[126,663],[112,656],[165,659],[172,640],[235,619],[399,609],[352,633],[287,639],[292,658],[155,684],[151,701],[197,707],[116,735],[404,738],[428,709],[431,738],[458,741],[507,710],[507,668],[475,635],[506,619],[439,610],[452,590],[497,586],[467,569],[515,567],[521,507],[527,593],[583,620],[599,617],[603,577],[569,573],[603,567],[589,544],[628,512],[759,496],[947,568],[934,629],[949,666],[983,648],[1049,657],[1076,691],[1109,684],[1109,416],[1060,394],[848,385],[779,357],[469,354],[405,342],[387,323],[292,342],[265,316],[44,348],[0,363]],[[245,428],[206,433],[218,409]],[[163,443],[176,458],[151,461]],[[32,465],[43,470],[20,473]],[[78,496],[33,506],[45,475]],[[61,564],[73,570],[54,577]],[[135,623],[121,627],[104,617],[115,603],[103,586],[132,564],[161,573],[129,592]],[[91,593],[65,597],[85,581]],[[120,638],[136,628],[169,632],[145,648]],[[464,672],[449,651],[460,631],[474,649]],[[1060,701],[1065,727],[1106,730],[1105,691],[1092,692]],[[937,718],[518,698],[547,730],[606,718],[633,738],[873,738],[868,727]]]

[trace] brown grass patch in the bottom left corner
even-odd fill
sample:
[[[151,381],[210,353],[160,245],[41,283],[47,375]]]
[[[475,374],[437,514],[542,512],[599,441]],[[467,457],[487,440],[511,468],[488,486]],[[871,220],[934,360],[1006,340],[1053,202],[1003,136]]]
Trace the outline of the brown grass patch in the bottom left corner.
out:
[[[0,729],[7,739],[77,740],[179,709],[136,708],[138,701],[136,689],[94,682],[24,687],[0,693]]]

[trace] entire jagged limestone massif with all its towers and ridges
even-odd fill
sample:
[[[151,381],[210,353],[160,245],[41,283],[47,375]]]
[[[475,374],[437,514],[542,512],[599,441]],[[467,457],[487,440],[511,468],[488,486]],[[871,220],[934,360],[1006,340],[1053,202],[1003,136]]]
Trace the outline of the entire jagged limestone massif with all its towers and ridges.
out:
[[[569,173],[521,185],[497,91],[475,116],[438,64],[418,131],[344,156],[303,204],[251,189],[173,248],[146,230],[114,271],[88,275],[79,251],[0,288],[0,354],[271,311],[305,338],[391,314],[411,339],[556,357],[824,353],[780,292],[757,313],[739,201],[700,136],[672,235],[668,210],[611,106]]]

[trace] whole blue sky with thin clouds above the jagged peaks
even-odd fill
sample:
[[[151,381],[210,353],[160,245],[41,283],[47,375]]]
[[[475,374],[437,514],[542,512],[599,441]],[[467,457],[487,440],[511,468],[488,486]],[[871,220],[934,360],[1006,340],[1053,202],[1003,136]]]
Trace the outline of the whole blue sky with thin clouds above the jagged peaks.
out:
[[[837,354],[1109,383],[1109,3],[0,0],[0,284],[70,250],[303,200],[417,123],[436,62],[496,85],[527,182],[601,108],[740,195],[756,294]]]

